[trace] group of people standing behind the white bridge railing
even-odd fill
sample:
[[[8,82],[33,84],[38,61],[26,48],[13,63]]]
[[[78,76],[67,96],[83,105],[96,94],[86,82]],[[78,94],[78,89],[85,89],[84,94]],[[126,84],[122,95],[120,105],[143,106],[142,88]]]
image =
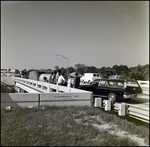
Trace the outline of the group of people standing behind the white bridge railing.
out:
[[[68,81],[65,80],[63,73],[58,70],[51,73],[51,76],[49,78],[49,83],[61,85],[61,86],[67,86],[67,87],[73,87],[73,88],[79,88],[80,86],[80,77],[78,76],[78,73],[75,74],[75,78],[72,83],[71,76],[68,77]]]

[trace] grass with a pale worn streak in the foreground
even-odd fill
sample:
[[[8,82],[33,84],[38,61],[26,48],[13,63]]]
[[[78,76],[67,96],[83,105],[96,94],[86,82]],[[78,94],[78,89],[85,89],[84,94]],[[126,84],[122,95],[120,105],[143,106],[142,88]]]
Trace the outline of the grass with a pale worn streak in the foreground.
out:
[[[102,109],[41,107],[1,109],[2,146],[145,146],[149,125]]]

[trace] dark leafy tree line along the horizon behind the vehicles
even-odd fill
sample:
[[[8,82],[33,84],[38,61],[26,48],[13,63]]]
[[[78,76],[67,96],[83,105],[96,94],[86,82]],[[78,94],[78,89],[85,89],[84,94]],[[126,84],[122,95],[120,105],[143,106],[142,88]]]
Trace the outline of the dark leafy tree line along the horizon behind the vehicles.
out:
[[[67,79],[67,68],[59,68],[58,66],[54,66],[55,70],[60,69],[64,74],[64,77]],[[30,69],[27,71],[29,74]],[[51,73],[53,70],[51,69],[41,69],[46,73]],[[102,78],[108,78],[112,75],[121,75],[122,78],[130,78],[136,80],[149,80],[149,64],[144,66],[138,64],[138,66],[128,68],[126,65],[113,65],[113,67],[101,67],[97,68],[94,66],[86,66],[85,64],[75,64],[74,67],[68,67],[68,73],[77,72],[78,74],[83,75],[84,73],[100,73]],[[16,74],[20,74],[19,70],[16,70]]]

